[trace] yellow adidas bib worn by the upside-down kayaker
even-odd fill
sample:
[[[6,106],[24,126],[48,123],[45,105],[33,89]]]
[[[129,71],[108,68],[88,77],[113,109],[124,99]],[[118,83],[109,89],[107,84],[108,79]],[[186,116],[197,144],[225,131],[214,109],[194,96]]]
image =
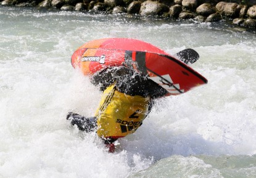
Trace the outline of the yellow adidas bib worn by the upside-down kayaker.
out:
[[[125,137],[134,133],[147,115],[149,97],[130,96],[108,87],[96,111],[99,137]]]

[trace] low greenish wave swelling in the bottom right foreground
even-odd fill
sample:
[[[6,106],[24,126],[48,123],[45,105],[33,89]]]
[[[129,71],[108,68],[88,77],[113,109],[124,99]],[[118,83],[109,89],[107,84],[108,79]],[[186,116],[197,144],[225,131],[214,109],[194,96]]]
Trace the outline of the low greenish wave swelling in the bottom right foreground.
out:
[[[254,177],[254,156],[173,155],[128,177]]]

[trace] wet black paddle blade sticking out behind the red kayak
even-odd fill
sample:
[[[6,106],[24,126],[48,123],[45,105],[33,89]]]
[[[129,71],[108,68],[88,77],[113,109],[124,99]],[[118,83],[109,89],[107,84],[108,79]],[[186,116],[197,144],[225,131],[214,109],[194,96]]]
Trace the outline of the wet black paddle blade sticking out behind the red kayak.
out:
[[[175,55],[178,56],[178,58],[180,58],[180,60],[185,64],[192,64],[199,60],[199,54],[191,48],[184,49]]]

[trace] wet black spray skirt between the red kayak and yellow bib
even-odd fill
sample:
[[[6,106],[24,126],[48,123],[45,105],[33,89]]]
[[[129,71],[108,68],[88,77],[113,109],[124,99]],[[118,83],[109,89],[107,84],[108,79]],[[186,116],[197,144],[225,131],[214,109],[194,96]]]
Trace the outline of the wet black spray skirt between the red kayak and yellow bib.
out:
[[[125,66],[107,68],[97,72],[91,78],[91,82],[99,86],[101,91],[116,83],[117,90],[126,95],[150,96],[153,99],[162,97],[168,92],[151,79]]]

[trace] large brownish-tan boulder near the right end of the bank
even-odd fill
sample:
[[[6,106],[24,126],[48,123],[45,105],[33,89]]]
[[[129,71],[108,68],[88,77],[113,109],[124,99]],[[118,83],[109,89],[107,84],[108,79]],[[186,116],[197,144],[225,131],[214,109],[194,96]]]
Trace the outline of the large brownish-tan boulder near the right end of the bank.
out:
[[[236,18],[236,17],[239,17],[239,12],[242,9],[242,6],[236,3],[219,2],[216,5],[216,8],[221,15],[225,15],[226,17]]]

